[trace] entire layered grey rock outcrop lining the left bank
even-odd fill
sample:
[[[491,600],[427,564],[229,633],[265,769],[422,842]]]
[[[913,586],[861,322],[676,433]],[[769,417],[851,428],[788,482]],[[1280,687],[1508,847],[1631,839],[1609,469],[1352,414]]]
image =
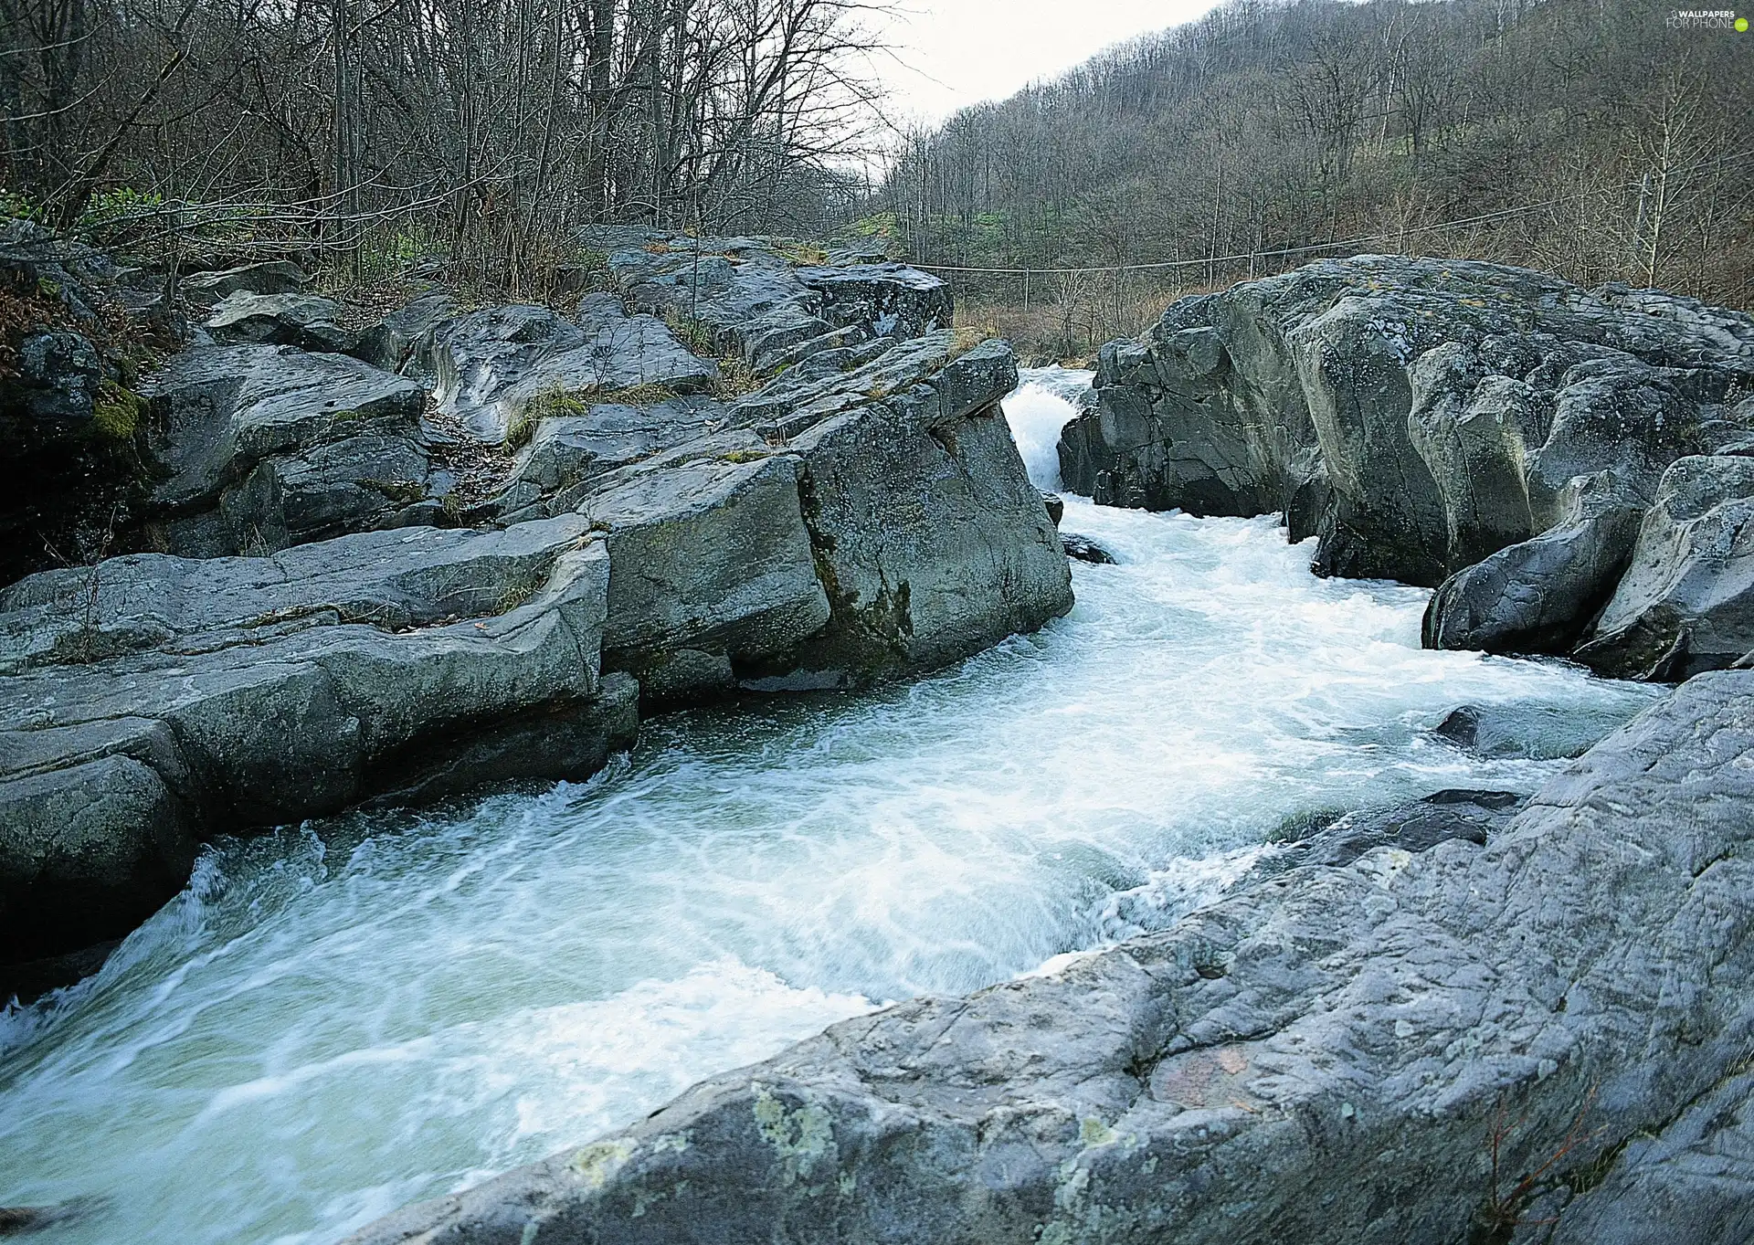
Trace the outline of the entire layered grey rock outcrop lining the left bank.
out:
[[[279,267],[216,274],[142,386],[170,552],[0,591],[4,959],[126,933],[212,835],[582,777],[642,707],[863,686],[1065,614],[1010,347],[933,328],[924,274],[749,249],[721,295],[835,324],[744,391],[675,309],[428,295],[337,337],[328,300],[256,293]],[[503,463],[467,507],[458,438]]]

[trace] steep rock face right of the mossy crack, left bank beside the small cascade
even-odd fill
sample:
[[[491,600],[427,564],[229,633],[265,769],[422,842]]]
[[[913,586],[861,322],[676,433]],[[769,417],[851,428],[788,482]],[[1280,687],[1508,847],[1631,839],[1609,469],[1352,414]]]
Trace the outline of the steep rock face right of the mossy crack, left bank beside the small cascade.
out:
[[[826,631],[770,675],[866,682],[966,658],[1072,608],[1054,524],[998,407],[1017,381],[1010,347],[984,342],[945,363],[951,351],[949,331],[928,333],[835,388],[795,395],[791,414],[765,424],[803,459],[803,519],[833,607]],[[761,395],[745,407],[768,410]]]

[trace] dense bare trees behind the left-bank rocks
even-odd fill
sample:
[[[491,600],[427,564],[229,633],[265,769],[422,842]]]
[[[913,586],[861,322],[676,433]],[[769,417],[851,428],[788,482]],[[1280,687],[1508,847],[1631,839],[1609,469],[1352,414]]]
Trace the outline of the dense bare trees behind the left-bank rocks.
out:
[[[542,293],[581,224],[844,221],[856,0],[0,0],[9,214],[135,245],[440,254]]]

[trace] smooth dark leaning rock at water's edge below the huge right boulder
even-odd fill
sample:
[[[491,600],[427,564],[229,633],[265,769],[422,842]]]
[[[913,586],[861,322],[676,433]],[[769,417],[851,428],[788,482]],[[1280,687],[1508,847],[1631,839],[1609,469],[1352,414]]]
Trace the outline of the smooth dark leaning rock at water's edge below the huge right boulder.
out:
[[[1631,561],[1645,505],[1614,472],[1575,477],[1554,526],[1444,580],[1426,605],[1424,647],[1570,652]]]

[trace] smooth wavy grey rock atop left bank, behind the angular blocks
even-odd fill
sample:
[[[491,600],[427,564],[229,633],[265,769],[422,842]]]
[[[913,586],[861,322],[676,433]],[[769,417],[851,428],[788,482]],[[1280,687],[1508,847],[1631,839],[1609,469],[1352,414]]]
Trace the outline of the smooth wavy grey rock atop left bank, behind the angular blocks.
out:
[[[663,321],[624,314],[614,295],[581,300],[577,323],[545,307],[472,312],[433,328],[419,354],[440,410],[482,440],[514,444],[581,400],[624,402],[645,389],[661,402],[719,379],[716,363],[693,356]]]

